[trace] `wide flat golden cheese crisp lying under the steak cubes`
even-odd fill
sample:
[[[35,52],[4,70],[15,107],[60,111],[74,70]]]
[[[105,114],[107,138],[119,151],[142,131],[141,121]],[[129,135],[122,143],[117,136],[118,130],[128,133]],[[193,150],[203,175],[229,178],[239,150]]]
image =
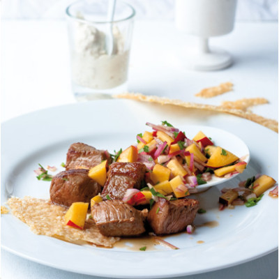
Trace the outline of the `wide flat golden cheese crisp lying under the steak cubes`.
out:
[[[76,244],[93,244],[112,247],[119,237],[103,236],[92,220],[86,220],[84,229],[75,229],[64,224],[65,207],[51,204],[35,197],[11,197],[8,206],[13,215],[26,223],[35,234],[52,236]]]

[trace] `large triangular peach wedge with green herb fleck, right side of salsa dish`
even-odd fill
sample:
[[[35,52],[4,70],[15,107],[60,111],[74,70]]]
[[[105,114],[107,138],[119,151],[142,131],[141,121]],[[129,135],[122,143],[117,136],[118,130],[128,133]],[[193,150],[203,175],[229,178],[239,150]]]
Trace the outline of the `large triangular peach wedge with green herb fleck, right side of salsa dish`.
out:
[[[217,146],[207,161],[207,165],[209,167],[223,167],[225,165],[234,163],[236,160],[239,160],[239,157],[221,148],[220,146]]]

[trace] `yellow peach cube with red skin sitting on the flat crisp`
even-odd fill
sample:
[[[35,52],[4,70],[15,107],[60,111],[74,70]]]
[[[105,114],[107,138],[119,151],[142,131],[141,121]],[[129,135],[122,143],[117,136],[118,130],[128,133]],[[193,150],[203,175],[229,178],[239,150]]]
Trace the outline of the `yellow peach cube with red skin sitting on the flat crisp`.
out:
[[[74,202],[64,216],[65,224],[83,229],[88,206],[88,202]]]

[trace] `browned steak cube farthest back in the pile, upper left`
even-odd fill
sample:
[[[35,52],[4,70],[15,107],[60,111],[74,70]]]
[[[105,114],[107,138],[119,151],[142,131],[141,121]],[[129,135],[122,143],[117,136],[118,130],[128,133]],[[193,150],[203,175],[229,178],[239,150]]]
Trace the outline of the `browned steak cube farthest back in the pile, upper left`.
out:
[[[77,142],[68,149],[66,169],[77,169],[85,167],[91,169],[100,164],[103,160],[111,163],[110,153],[106,150],[98,150],[93,146]]]

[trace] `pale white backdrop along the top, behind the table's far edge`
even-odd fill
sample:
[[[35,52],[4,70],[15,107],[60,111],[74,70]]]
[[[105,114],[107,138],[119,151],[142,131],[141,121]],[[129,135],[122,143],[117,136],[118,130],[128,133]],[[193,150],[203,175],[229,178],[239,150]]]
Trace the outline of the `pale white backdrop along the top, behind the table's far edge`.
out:
[[[2,18],[61,20],[64,19],[66,6],[73,1],[75,0],[3,0]],[[137,19],[173,20],[174,18],[174,0],[126,1],[137,10]],[[236,20],[277,19],[277,0],[238,0]]]

